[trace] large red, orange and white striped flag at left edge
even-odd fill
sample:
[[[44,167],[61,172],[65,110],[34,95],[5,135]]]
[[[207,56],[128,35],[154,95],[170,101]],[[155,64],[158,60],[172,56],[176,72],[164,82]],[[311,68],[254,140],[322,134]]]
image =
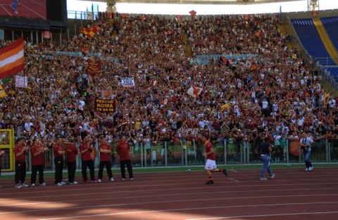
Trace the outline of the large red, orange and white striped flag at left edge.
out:
[[[20,38],[0,50],[0,79],[23,71],[23,61],[23,38]]]

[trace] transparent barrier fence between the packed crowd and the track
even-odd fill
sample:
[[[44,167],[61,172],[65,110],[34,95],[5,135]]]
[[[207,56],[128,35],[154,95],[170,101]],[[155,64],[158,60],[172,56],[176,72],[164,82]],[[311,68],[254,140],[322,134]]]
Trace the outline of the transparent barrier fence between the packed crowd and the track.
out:
[[[235,141],[233,138],[211,141],[215,149],[216,163],[226,164],[261,164],[260,145],[251,141]],[[77,148],[79,144],[76,144]],[[112,167],[118,168],[118,155],[115,151],[115,143],[111,144]],[[96,143],[96,150],[98,145]],[[99,152],[99,150],[97,150]],[[133,167],[184,167],[203,165],[204,144],[200,141],[185,140],[163,141],[159,143],[130,143],[130,160]],[[54,170],[54,155],[50,149],[45,153],[46,170]],[[303,154],[299,146],[299,140],[281,139],[275,143],[271,160],[277,164],[301,164],[304,162]],[[28,170],[31,170],[31,155],[27,155]],[[338,138],[327,140],[321,138],[315,140],[311,147],[311,162],[332,163],[338,162]],[[66,163],[65,163],[66,166]],[[94,166],[99,167],[99,153],[94,159]],[[77,155],[77,169],[81,169],[81,157]]]

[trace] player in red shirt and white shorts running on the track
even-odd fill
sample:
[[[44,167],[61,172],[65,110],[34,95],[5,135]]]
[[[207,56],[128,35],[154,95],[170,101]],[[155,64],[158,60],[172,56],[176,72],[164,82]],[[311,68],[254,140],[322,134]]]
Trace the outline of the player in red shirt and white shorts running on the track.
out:
[[[206,167],[204,168],[206,169],[206,175],[208,176],[208,182],[206,182],[206,184],[213,184],[213,175],[211,172],[221,172],[227,176],[227,170],[217,169],[215,151],[213,150],[213,145],[208,141],[206,136],[201,136],[201,141],[203,141],[206,146],[206,153],[204,153],[204,157],[206,157]]]

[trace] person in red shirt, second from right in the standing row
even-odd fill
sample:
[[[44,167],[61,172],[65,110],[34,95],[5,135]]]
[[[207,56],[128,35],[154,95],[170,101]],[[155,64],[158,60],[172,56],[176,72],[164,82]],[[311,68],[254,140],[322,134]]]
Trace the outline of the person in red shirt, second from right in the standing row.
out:
[[[107,174],[111,182],[114,181],[113,174],[111,172],[111,145],[107,143],[106,138],[102,138],[102,143],[99,146],[100,149],[100,166],[99,166],[99,183],[104,176],[104,166],[106,166]]]

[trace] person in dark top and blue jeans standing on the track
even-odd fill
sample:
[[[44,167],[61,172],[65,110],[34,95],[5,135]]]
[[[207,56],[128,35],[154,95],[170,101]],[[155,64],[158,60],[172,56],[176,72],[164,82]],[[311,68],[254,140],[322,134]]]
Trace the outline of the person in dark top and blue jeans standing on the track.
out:
[[[271,177],[271,179],[275,178],[275,174],[270,169],[270,162],[271,162],[271,157],[270,153],[273,151],[273,146],[271,143],[268,142],[268,137],[265,137],[265,140],[263,143],[261,143],[261,160],[263,162],[263,167],[261,169],[261,178],[260,180],[268,180],[265,178],[265,169],[268,170],[268,173]]]

